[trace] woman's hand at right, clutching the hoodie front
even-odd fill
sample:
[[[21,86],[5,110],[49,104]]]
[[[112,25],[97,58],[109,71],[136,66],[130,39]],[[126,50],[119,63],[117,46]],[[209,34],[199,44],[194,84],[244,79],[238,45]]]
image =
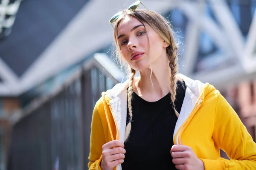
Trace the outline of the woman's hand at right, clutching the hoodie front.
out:
[[[204,170],[204,163],[195,155],[191,147],[173,145],[172,162],[178,170]]]

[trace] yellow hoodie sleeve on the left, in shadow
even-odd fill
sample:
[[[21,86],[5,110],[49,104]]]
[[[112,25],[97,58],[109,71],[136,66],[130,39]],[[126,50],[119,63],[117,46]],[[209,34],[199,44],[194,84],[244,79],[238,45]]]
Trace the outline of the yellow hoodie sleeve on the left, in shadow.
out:
[[[99,99],[93,110],[90,134],[90,154],[88,157],[89,170],[101,170],[100,162],[102,161],[102,146],[106,143],[102,120],[100,118],[100,113],[102,111],[104,113],[102,102],[102,98]]]

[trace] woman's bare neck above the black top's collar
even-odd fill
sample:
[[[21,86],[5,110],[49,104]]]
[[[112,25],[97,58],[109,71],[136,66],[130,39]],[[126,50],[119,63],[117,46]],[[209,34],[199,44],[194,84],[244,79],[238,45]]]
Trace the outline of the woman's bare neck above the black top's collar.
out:
[[[170,92],[170,77],[169,60],[167,56],[161,56],[151,64],[151,68],[140,71],[140,79],[135,83],[137,94],[149,95],[155,100],[162,98]]]

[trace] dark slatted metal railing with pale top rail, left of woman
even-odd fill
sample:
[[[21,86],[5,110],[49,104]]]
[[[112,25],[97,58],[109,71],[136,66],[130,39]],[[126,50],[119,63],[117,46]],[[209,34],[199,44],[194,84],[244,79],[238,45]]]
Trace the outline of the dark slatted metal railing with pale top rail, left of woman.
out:
[[[64,85],[17,113],[7,169],[88,169],[93,107],[122,78],[105,54],[95,54]]]

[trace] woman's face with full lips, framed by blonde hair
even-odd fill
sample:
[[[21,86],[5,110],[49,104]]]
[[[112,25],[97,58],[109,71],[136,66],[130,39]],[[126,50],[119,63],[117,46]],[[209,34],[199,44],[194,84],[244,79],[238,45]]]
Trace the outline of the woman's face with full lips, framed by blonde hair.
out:
[[[151,27],[145,26],[135,17],[125,17],[117,28],[122,57],[137,71],[150,68],[160,57],[166,57],[168,46]]]

